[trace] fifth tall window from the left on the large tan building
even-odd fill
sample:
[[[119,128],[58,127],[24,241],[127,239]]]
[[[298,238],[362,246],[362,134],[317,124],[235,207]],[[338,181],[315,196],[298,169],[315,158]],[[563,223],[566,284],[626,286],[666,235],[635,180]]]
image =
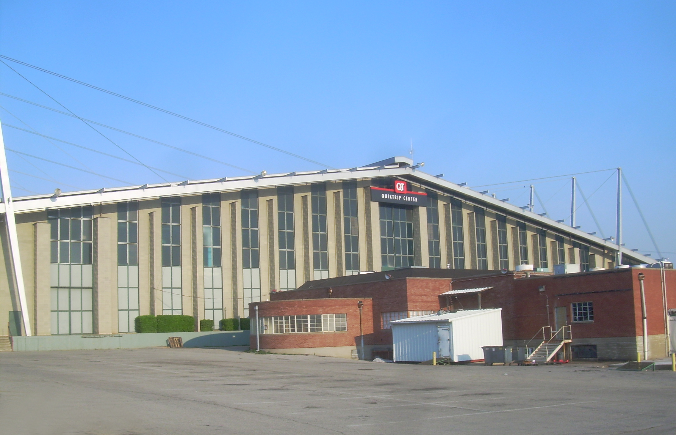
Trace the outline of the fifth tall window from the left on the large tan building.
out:
[[[249,317],[249,303],[258,302],[261,297],[258,228],[258,190],[243,190],[242,267],[244,272],[244,317]]]

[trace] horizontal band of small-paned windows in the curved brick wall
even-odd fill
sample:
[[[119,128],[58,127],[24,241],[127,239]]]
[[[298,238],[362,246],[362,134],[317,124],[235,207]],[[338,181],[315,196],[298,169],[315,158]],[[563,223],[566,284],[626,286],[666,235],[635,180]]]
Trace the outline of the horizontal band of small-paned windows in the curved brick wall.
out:
[[[261,334],[347,331],[346,314],[274,315],[262,317],[260,323]]]

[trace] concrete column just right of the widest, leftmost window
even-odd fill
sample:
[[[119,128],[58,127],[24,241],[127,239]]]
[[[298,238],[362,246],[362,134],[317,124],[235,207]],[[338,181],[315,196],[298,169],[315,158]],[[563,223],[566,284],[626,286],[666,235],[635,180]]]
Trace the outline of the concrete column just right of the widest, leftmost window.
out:
[[[93,315],[94,334],[112,334],[112,316],[117,304],[112,305],[113,295],[113,265],[111,249],[113,243],[112,219],[94,218],[94,289]],[[115,270],[117,268],[115,267]]]

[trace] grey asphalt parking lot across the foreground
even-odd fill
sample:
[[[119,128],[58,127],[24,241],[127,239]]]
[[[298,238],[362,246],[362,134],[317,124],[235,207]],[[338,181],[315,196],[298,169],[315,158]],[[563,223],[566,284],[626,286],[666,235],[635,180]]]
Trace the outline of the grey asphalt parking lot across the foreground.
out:
[[[0,354],[3,434],[673,434],[676,374],[232,349]]]

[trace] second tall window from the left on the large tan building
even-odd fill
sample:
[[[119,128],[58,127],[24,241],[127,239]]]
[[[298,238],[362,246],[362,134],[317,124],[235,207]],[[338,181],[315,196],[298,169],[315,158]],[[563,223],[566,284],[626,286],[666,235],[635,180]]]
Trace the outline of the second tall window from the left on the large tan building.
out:
[[[118,203],[118,332],[139,315],[139,203]]]

